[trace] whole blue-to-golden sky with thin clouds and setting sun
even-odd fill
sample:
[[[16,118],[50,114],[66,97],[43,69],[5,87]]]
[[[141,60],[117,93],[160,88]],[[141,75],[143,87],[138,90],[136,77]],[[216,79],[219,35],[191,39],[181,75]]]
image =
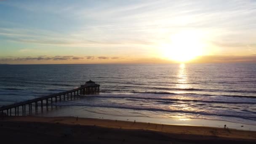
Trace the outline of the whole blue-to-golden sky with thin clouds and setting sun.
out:
[[[0,0],[0,64],[256,62],[256,0]]]

